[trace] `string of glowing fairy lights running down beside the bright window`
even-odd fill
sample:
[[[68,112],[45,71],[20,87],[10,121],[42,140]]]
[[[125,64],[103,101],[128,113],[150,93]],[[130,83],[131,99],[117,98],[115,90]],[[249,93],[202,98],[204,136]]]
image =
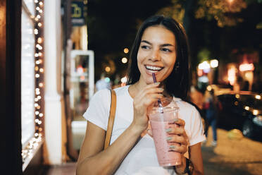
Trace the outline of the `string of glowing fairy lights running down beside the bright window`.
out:
[[[42,109],[42,90],[44,90],[44,68],[43,68],[43,8],[44,8],[44,0],[34,0],[35,2],[35,16],[30,16],[32,20],[35,20],[35,29],[33,33],[35,34],[35,133],[34,137],[32,137],[28,145],[26,145],[21,154],[23,162],[27,157],[32,157],[34,155],[35,150],[39,147],[42,142],[42,123],[44,119],[44,109]]]

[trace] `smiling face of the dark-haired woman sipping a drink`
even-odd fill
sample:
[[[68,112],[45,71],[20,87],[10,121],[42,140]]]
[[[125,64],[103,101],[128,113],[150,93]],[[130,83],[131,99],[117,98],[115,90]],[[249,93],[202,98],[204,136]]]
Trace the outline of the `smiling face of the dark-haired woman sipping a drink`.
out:
[[[137,53],[137,66],[141,73],[139,81],[162,82],[173,71],[176,60],[175,35],[161,25],[151,26],[144,30]]]

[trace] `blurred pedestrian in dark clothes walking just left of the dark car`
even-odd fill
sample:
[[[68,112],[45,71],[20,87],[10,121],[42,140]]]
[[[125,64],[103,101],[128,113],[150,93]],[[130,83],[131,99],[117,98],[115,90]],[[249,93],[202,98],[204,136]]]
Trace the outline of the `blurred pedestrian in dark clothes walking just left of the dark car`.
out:
[[[204,109],[206,109],[206,120],[208,123],[206,138],[208,136],[208,128],[211,126],[213,133],[213,140],[211,142],[212,146],[217,145],[217,122],[218,122],[218,111],[220,104],[218,102],[218,98],[214,95],[214,90],[211,89],[207,93],[208,97],[206,97],[206,101],[204,102]]]

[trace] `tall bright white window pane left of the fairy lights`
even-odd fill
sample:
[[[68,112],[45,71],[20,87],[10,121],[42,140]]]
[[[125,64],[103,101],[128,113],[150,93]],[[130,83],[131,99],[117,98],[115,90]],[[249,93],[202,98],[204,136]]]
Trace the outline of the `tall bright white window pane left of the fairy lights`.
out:
[[[22,10],[21,110],[22,145],[35,133],[35,34],[29,13]]]

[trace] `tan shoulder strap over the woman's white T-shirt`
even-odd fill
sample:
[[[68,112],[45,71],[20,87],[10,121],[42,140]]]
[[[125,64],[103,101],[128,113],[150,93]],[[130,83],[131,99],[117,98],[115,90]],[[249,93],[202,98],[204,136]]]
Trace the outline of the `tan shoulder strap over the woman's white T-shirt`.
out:
[[[116,92],[115,90],[111,90],[111,107],[110,107],[110,113],[108,118],[104,150],[106,150],[106,147],[109,146],[111,140],[111,134],[113,131],[113,122],[115,121],[115,114],[116,114]]]

